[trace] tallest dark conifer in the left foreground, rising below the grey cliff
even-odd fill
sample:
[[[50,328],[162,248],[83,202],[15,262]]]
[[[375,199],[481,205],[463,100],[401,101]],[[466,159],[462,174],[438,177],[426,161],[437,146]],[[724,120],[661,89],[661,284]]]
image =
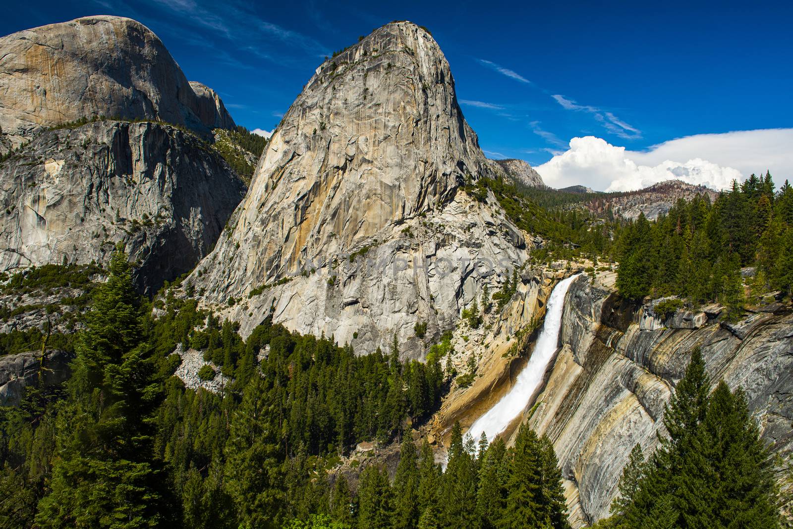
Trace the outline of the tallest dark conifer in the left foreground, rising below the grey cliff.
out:
[[[76,347],[70,399],[59,414],[51,490],[39,527],[158,527],[167,523],[163,476],[152,464],[158,398],[139,303],[121,245],[94,294]]]

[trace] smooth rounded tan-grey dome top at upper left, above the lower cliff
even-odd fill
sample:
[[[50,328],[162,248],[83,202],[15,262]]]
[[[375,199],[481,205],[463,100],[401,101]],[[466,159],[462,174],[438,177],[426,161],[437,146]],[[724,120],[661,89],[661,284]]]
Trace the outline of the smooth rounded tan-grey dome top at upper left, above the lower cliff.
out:
[[[217,94],[188,83],[140,22],[84,17],[0,38],[0,154],[94,116],[159,120],[207,138],[234,125]]]

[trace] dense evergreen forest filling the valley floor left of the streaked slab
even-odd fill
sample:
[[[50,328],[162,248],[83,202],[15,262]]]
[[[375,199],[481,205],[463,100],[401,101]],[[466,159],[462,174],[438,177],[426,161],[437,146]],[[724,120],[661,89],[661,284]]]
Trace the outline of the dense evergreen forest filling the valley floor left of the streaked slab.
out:
[[[399,440],[428,417],[451,376],[443,348],[402,363],[396,343],[355,356],[269,323],[243,341],[192,299],[161,306],[152,319],[118,249],[72,378],[0,409],[2,527],[567,527],[553,448],[528,430],[477,454],[457,427],[446,473],[408,437],[393,485],[369,466],[358,493],[328,473],[355,443]],[[171,376],[178,341],[233,377],[224,394]]]

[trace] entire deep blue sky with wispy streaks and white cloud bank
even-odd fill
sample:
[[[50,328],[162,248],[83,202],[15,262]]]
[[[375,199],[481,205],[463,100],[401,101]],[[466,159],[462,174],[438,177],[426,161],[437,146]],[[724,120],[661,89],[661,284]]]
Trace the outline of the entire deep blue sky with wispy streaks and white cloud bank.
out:
[[[427,26],[445,52],[486,154],[546,164],[541,174],[555,185],[635,187],[636,178],[674,169],[718,186],[734,174],[726,167],[793,179],[784,149],[793,142],[791,2],[40,0],[6,12],[0,33],[100,13],[147,25],[187,78],[216,89],[251,129],[278,124],[324,55],[408,19]],[[769,138],[768,129],[779,132]],[[732,131],[765,135],[724,134]],[[689,137],[699,140],[676,140]],[[766,153],[769,141],[782,147]],[[659,144],[678,165],[658,169]],[[747,152],[738,156],[736,145]],[[685,166],[696,158],[717,169]],[[655,173],[630,169],[615,185],[609,175],[626,161]]]

